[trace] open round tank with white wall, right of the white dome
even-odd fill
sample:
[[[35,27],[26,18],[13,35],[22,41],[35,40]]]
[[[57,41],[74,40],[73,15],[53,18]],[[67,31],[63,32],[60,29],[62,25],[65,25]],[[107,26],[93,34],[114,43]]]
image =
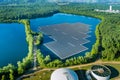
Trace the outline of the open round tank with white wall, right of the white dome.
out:
[[[90,79],[95,79],[95,80],[109,80],[111,71],[109,68],[103,65],[94,65],[92,66],[91,70],[86,72],[87,78]]]

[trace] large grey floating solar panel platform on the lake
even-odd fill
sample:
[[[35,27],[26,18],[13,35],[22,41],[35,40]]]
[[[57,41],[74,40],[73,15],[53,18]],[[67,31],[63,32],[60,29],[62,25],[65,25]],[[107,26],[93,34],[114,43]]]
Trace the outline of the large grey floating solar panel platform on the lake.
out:
[[[83,23],[63,23],[40,27],[40,31],[54,40],[44,45],[59,58],[65,59],[88,49],[83,44],[90,42],[86,39],[90,37],[87,34],[89,26]]]

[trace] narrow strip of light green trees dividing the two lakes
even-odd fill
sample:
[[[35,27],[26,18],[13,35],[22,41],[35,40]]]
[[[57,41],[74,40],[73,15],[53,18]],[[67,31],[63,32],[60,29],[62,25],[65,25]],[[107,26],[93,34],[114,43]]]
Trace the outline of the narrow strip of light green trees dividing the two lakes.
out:
[[[30,30],[30,24],[28,20],[20,20],[20,23],[25,24],[26,41],[28,42],[28,56],[23,58],[22,62],[18,61],[18,74],[23,74],[25,70],[29,69],[33,60],[33,37]]]

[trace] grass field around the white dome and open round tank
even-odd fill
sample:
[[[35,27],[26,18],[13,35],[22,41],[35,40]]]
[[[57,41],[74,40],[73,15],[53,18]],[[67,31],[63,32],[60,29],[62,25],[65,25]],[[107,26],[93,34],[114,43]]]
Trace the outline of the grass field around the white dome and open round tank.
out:
[[[120,64],[103,64],[106,65],[112,72],[110,80],[120,80]],[[92,65],[84,67],[72,68],[78,75],[79,80],[86,80],[85,72],[89,70]],[[22,80],[50,80],[53,70],[38,71],[32,73],[32,76],[23,78]]]

